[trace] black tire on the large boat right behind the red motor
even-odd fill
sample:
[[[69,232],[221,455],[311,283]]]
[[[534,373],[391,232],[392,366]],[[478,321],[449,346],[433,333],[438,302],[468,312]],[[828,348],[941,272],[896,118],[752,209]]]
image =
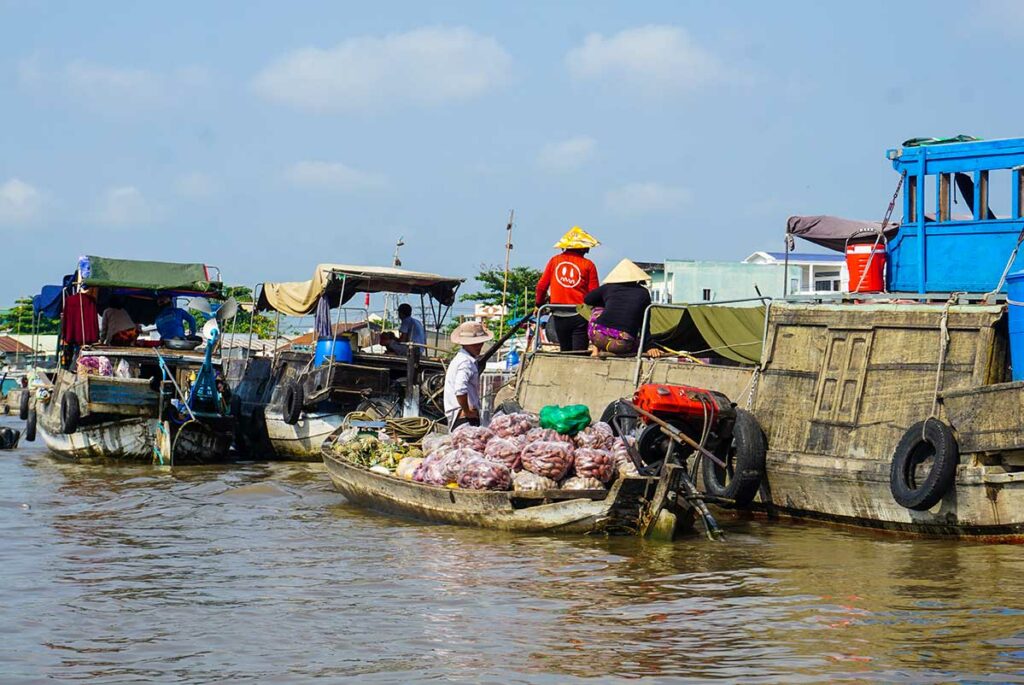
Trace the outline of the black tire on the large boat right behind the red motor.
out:
[[[723,469],[707,458],[700,465],[705,491],[745,507],[754,501],[761,487],[766,452],[765,435],[758,420],[750,412],[737,409],[732,440],[716,451],[727,468]]]

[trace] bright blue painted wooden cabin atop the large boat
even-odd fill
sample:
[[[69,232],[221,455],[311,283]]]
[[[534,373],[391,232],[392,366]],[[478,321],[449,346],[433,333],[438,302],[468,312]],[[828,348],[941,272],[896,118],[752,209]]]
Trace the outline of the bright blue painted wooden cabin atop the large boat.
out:
[[[907,183],[916,182],[916,217],[900,226],[889,242],[889,288],[902,292],[987,292],[995,288],[1024,229],[1020,170],[1014,170],[1010,217],[987,218],[982,204],[982,178],[993,169],[1014,169],[1024,165],[1024,138],[979,140],[942,145],[924,145],[888,151],[893,169],[907,174]],[[928,176],[936,176],[936,212],[939,206],[939,174],[973,174],[974,219],[971,221],[929,221],[925,215]],[[910,203],[904,190],[903,216],[909,217]],[[990,196],[990,194],[989,194]],[[1012,270],[1024,267],[1018,257]],[[1005,287],[1004,287],[1005,290]]]

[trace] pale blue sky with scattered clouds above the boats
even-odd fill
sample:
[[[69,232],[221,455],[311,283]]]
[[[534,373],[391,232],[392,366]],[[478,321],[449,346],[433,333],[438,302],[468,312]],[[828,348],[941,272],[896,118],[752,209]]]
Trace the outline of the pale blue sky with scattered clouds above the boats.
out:
[[[998,0],[0,0],[0,307],[81,254],[471,277],[513,209],[513,264],[779,250],[881,219],[902,140],[1024,134],[1021,38]]]

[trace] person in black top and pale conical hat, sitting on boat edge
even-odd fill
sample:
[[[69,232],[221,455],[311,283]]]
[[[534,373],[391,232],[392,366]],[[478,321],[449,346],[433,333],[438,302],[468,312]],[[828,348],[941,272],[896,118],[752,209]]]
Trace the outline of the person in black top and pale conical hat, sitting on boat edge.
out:
[[[645,283],[650,276],[629,259],[618,262],[604,285],[587,293],[583,301],[593,307],[587,334],[598,351],[634,354],[643,315],[650,306]]]

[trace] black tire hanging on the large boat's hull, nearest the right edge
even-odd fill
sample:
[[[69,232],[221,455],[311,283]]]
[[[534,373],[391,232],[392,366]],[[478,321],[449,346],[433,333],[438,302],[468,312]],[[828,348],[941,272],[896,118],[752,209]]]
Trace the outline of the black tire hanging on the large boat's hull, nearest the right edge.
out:
[[[924,479],[918,478],[921,464],[931,458]],[[938,419],[919,421],[910,426],[893,453],[889,489],[896,502],[913,511],[928,511],[941,500],[956,480],[959,446],[953,431]]]

